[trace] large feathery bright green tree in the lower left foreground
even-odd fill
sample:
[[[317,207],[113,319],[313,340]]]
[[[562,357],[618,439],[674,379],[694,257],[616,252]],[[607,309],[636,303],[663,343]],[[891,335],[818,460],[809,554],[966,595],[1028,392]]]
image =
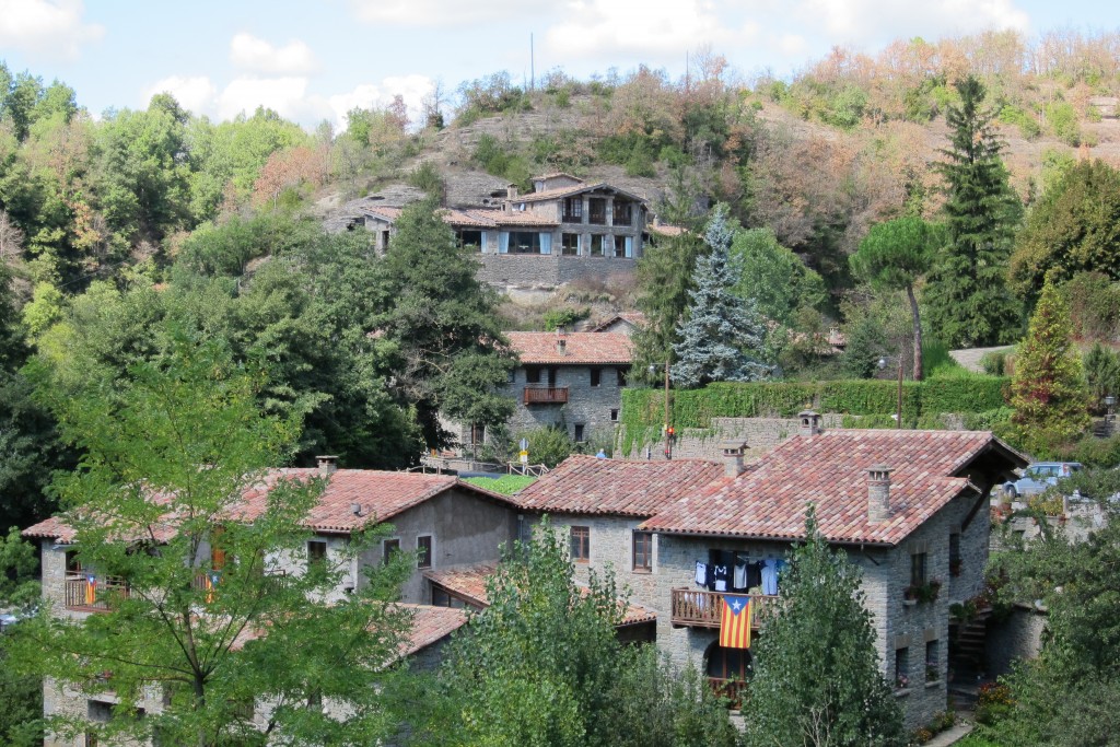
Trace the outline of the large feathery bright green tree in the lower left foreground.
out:
[[[95,728],[104,738],[199,747],[384,738],[398,717],[385,712],[379,687],[391,682],[384,667],[408,625],[389,600],[407,561],[371,568],[367,583],[333,605],[309,599],[336,589],[371,538],[356,536],[337,566],[270,572],[280,558],[302,555],[321,483],[279,480],[248,514],[243,496],[284,459],[298,423],[260,410],[261,376],[221,345],[168,335],[170,354],[132,366],[115,392],[93,387],[74,399],[53,387],[50,371],[38,373],[65,437],[85,452],[81,469],[55,483],[77,560],[129,594],[85,619],[44,609],[16,627],[12,662],[59,685],[115,693],[105,725],[50,719],[62,735]],[[221,580],[199,588],[203,573]],[[138,719],[151,685],[165,707]],[[319,699],[347,718],[309,707]],[[268,709],[263,731],[246,712],[254,701]]]

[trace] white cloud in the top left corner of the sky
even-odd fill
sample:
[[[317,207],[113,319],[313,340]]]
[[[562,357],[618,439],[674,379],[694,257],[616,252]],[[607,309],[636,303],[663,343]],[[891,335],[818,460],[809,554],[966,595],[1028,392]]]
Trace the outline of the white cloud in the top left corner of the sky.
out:
[[[0,0],[0,48],[74,59],[82,45],[105,32],[102,26],[85,22],[84,15],[82,0]]]

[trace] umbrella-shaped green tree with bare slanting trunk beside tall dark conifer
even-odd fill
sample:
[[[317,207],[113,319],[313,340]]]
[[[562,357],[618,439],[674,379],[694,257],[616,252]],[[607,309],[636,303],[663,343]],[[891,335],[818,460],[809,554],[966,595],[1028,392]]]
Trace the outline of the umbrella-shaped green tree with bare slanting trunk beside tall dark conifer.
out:
[[[904,290],[914,319],[914,381],[922,379],[922,318],[914,286],[933,267],[940,232],[918,217],[877,223],[851,255],[852,272],[875,290]]]

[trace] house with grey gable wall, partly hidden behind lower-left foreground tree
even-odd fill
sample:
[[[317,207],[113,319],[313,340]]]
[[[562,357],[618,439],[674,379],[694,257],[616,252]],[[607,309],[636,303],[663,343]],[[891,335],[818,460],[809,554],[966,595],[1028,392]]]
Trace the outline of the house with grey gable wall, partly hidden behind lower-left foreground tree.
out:
[[[343,547],[353,532],[382,522],[391,523],[392,536],[352,562],[338,587],[321,601],[330,604],[367,582],[362,567],[381,563],[396,551],[416,553],[416,570],[401,589],[400,600],[412,611],[412,628],[401,656],[409,657],[414,667],[435,666],[447,637],[466,622],[466,616],[461,609],[429,604],[431,591],[424,573],[457,564],[496,561],[501,545],[520,536],[519,505],[506,496],[463,483],[454,476],[336,469],[334,458],[325,457],[320,458],[318,469],[271,470],[263,485],[244,493],[242,519],[251,521],[260,515],[276,480],[316,476],[325,477],[327,483],[306,519],[307,527],[314,532],[307,540],[306,552],[296,557],[290,553],[267,557],[265,572],[301,575],[309,562],[342,563]],[[104,578],[95,569],[76,566],[72,552],[76,533],[63,519],[56,516],[39,522],[22,534],[40,542],[43,600],[54,614],[82,619],[106,611],[113,595],[129,592],[123,579]],[[216,564],[214,552],[209,547],[202,549],[202,555],[211,555]],[[95,582],[91,582],[91,577]],[[199,573],[200,582],[205,581],[204,577]],[[74,691],[53,682],[44,687],[47,716],[68,713],[94,720],[108,718],[114,702],[115,697],[111,693]],[[141,707],[149,713],[160,711],[162,694],[158,688],[147,694]],[[329,710],[329,704],[327,707]],[[267,709],[268,703],[256,703],[254,718],[262,725]],[[83,739],[48,738],[46,744],[76,747],[83,745]]]

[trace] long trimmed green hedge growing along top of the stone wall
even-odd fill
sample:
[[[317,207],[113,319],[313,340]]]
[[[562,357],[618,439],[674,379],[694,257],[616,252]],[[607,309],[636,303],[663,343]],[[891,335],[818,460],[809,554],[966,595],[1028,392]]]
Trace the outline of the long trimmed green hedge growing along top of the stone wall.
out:
[[[903,382],[903,422],[934,423],[946,412],[969,414],[1007,407],[1006,376],[971,376]],[[656,440],[664,419],[660,389],[623,390],[623,452]],[[712,418],[794,418],[805,408],[848,415],[888,419],[898,408],[898,382],[851,380],[822,382],[719,383],[672,392],[673,427],[710,428]],[[872,418],[871,422],[878,422]],[[886,420],[884,420],[886,422]],[[893,420],[890,420],[893,424]]]

